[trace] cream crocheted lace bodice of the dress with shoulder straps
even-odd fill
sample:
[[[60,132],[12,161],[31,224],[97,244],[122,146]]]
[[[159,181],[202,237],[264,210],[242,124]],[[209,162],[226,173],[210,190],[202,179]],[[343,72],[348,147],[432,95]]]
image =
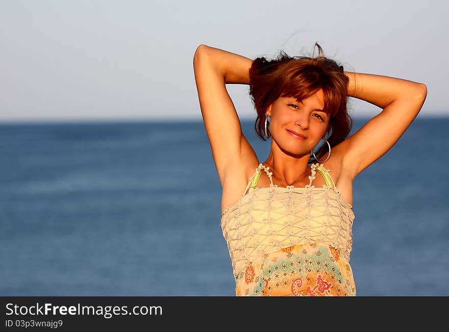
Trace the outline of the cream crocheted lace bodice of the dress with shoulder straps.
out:
[[[268,175],[270,186],[246,193],[261,169]],[[332,188],[312,185],[316,170],[331,179]],[[269,167],[260,163],[240,200],[222,213],[221,229],[234,275],[264,254],[297,244],[328,244],[349,261],[355,216],[352,206],[341,198],[329,170],[322,164],[312,164],[310,182],[305,187],[278,187],[271,175]]]

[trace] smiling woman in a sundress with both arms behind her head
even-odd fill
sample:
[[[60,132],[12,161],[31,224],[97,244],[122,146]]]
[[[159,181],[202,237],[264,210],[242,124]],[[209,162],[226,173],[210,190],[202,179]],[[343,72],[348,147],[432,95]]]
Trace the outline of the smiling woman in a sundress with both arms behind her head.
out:
[[[315,47],[317,57],[281,52],[270,61],[206,45],[194,54],[237,296],[356,295],[353,181],[400,139],[427,96],[418,82],[345,72]],[[256,133],[271,140],[263,162],[226,84],[250,86]],[[351,136],[348,96],[383,109]]]

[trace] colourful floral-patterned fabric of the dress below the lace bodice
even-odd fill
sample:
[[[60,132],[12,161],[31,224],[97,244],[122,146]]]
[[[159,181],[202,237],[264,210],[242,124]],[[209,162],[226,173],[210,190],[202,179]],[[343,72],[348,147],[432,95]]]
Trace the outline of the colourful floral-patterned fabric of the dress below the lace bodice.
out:
[[[236,278],[237,296],[355,296],[350,264],[330,245],[294,245],[265,254]]]

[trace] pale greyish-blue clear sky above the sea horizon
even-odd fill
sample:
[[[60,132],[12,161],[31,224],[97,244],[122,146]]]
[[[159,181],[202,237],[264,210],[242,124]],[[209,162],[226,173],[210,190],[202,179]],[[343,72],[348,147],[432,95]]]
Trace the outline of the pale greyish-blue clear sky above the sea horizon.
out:
[[[201,119],[199,44],[254,59],[312,50],[345,70],[423,82],[419,117],[449,114],[443,1],[0,2],[0,121]],[[253,118],[247,86],[229,86]],[[351,98],[355,116],[380,112]]]

